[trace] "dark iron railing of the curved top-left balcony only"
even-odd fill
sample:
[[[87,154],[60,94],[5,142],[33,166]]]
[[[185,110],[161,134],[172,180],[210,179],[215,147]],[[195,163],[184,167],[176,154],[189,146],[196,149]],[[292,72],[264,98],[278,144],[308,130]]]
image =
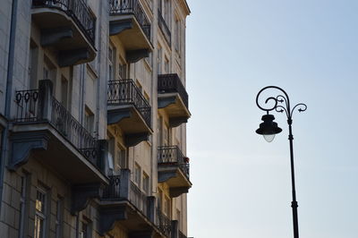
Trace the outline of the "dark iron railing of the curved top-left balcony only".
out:
[[[32,0],[32,8],[41,7],[55,8],[66,13],[95,46],[96,18],[83,0]]]

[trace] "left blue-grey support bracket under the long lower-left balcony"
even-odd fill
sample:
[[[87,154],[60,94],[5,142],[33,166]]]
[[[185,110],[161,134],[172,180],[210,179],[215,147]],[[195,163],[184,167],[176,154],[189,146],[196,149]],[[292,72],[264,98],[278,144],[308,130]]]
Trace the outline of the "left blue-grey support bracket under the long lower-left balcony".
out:
[[[8,169],[15,171],[19,166],[26,164],[32,149],[46,150],[48,140],[47,132],[18,132],[11,135]]]

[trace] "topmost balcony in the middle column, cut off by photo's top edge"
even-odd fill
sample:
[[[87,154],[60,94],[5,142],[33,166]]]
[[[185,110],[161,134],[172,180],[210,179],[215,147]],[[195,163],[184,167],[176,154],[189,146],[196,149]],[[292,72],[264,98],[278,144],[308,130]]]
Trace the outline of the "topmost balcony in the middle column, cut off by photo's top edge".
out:
[[[109,35],[123,44],[126,59],[135,63],[153,50],[150,21],[139,0],[109,0]]]

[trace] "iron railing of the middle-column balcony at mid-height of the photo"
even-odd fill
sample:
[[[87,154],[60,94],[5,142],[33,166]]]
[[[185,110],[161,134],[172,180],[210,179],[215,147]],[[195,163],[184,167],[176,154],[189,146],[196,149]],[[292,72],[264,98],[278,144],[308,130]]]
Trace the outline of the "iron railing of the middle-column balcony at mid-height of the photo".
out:
[[[132,80],[108,81],[108,105],[134,105],[151,126],[151,107]]]

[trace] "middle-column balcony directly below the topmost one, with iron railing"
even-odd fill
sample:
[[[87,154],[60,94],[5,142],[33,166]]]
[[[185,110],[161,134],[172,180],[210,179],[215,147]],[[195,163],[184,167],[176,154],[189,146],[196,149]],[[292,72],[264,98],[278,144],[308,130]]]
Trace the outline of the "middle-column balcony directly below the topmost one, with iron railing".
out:
[[[151,107],[134,82],[109,81],[107,94],[107,123],[122,129],[126,146],[149,140]]]

